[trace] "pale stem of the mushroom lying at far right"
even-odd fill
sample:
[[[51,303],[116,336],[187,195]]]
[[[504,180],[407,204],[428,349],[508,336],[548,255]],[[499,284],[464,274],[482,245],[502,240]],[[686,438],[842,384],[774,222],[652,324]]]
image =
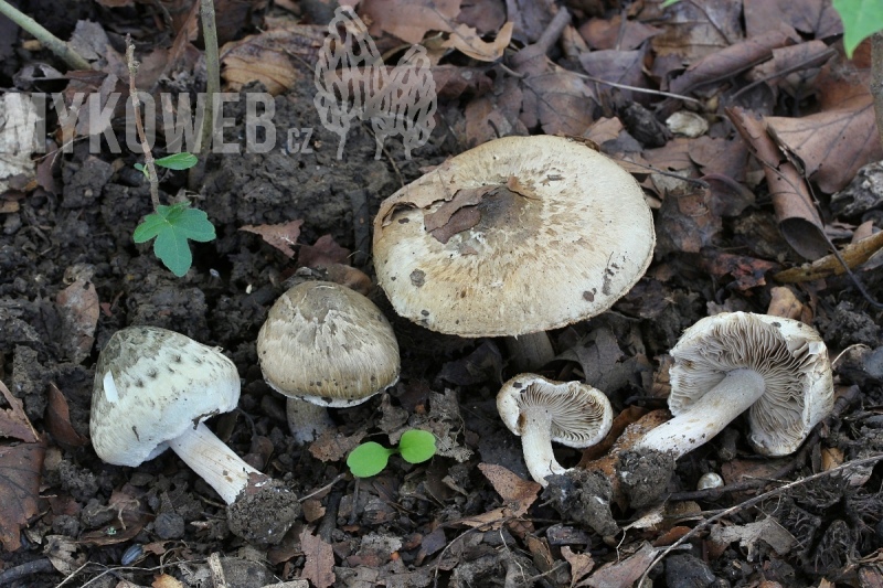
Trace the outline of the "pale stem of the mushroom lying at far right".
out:
[[[764,377],[754,370],[727,372],[720,384],[687,410],[645,435],[635,448],[666,451],[679,459],[721,432],[757,402],[765,389]]]

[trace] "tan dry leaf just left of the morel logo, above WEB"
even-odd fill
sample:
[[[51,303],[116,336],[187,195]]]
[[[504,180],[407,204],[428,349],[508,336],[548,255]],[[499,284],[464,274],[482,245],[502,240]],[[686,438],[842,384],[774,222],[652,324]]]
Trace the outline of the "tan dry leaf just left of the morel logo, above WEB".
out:
[[[291,24],[227,43],[221,47],[227,87],[237,92],[251,82],[260,82],[275,96],[291,87],[299,76],[312,78],[313,72],[304,63],[318,61],[326,33],[325,26]]]

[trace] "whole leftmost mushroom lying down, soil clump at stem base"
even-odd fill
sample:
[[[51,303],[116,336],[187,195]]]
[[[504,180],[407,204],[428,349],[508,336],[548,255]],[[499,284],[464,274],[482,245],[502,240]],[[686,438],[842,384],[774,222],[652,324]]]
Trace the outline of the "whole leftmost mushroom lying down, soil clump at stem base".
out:
[[[92,445],[104,461],[132,468],[171,448],[227,504],[233,533],[278,543],[300,514],[297,496],[203,423],[238,399],[236,366],[216,348],[157,327],[129,327],[98,355]]]

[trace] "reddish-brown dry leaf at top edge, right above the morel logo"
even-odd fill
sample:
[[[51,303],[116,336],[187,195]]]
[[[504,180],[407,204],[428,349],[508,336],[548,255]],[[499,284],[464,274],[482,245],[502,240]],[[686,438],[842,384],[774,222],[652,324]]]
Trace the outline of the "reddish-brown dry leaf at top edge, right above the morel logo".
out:
[[[359,12],[375,39],[387,32],[406,43],[419,43],[429,31],[457,28],[461,0],[362,0]]]

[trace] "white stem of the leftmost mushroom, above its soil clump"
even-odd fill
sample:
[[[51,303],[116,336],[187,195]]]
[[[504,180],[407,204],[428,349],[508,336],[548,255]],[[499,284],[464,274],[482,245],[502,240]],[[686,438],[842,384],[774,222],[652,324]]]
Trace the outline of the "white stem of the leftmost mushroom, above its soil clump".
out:
[[[257,474],[269,480],[234,453],[204,423],[188,429],[168,443],[227,504],[233,504],[248,487],[249,475]]]

